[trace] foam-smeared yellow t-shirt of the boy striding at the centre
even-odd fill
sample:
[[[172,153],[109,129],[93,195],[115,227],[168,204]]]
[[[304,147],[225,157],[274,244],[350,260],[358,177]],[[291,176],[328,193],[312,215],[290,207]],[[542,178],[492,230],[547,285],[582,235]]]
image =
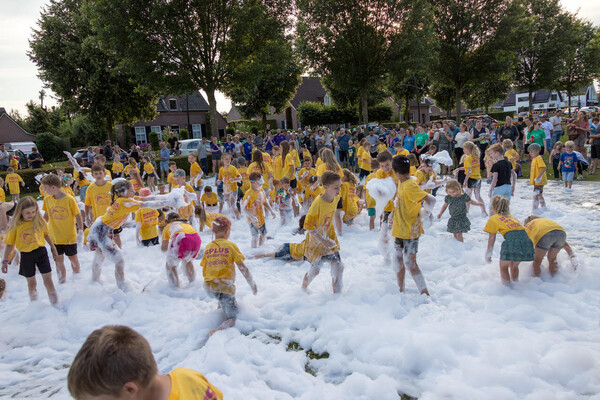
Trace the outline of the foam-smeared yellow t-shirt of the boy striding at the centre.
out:
[[[336,196],[331,203],[323,200],[323,196],[317,197],[312,203],[306,218],[304,219],[304,229],[306,232],[304,255],[310,262],[317,261],[321,256],[333,254],[340,250],[340,245],[333,226],[333,220],[337,211],[340,196]],[[342,203],[343,205],[343,203]],[[324,247],[320,241],[312,235],[316,231],[323,237],[329,237],[335,242],[333,248]]]

